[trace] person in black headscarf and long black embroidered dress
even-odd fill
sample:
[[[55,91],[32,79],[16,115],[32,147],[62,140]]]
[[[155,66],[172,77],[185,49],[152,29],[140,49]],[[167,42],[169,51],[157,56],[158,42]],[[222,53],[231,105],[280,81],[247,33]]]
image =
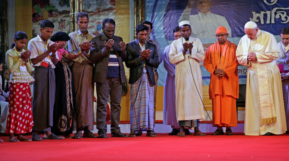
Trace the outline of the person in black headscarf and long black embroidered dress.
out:
[[[67,33],[59,31],[52,37],[51,41],[59,43],[60,47],[57,50],[58,61],[54,68],[55,73],[55,102],[53,108],[53,126],[51,131],[55,135],[65,138],[72,138],[70,135],[73,130],[76,130],[76,115],[75,115],[75,93],[72,77],[72,59],[79,55],[73,56],[65,50],[66,41],[70,37]]]

